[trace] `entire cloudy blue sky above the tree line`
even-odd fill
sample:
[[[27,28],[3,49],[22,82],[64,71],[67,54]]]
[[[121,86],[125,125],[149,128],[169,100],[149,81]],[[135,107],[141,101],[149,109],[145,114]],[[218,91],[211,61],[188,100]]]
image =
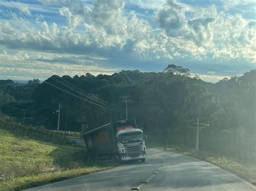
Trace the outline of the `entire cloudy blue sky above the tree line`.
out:
[[[0,0],[0,79],[255,69],[254,0]]]

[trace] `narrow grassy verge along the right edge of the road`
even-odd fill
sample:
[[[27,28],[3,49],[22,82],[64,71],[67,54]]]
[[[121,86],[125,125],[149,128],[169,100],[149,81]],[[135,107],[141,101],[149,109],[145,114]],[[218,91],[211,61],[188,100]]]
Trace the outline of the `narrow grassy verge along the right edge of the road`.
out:
[[[163,146],[157,143],[147,143],[147,146],[159,148],[161,150],[164,149]],[[178,147],[178,146],[169,146],[167,147],[167,151],[188,155],[193,158],[210,162],[216,166],[226,169],[228,172],[238,175],[242,179],[245,179],[253,183],[253,185],[256,185],[256,165],[255,164],[248,164],[246,162],[241,162],[241,161],[238,161],[237,159],[227,157],[225,155],[214,153],[214,152],[205,152],[205,151],[196,152],[194,150],[189,150],[187,148]]]

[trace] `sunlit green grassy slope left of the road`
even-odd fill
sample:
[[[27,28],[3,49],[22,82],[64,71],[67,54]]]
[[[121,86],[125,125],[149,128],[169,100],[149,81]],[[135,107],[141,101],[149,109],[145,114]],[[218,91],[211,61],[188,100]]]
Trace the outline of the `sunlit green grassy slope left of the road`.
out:
[[[86,161],[85,153],[83,147],[19,137],[0,129],[0,190],[21,190],[116,166],[110,161]]]

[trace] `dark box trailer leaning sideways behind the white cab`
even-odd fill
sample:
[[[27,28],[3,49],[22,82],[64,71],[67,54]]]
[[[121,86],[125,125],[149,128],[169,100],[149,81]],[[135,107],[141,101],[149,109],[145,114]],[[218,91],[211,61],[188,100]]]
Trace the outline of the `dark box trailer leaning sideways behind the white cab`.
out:
[[[127,119],[100,126],[84,133],[83,137],[91,154],[117,154],[117,132],[131,128],[137,129],[135,119]]]

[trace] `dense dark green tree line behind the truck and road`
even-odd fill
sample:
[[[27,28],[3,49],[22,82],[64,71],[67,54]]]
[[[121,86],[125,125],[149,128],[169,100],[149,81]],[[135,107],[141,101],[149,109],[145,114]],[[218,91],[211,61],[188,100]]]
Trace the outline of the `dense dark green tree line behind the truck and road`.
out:
[[[197,118],[204,135],[200,137],[202,142],[207,136],[209,141],[217,140],[216,136],[227,132],[232,136],[238,131],[241,136],[255,135],[255,76],[256,70],[252,70],[241,77],[213,84],[198,76],[191,77],[189,69],[175,65],[169,65],[159,73],[123,70],[112,75],[87,73],[74,77],[66,75],[61,79],[52,76],[46,80],[48,83],[5,86],[3,91],[17,102],[2,105],[2,112],[22,118],[22,109],[26,109],[26,122],[56,129],[56,110],[61,103],[62,130],[80,131],[83,125],[91,130],[124,119],[125,105],[120,96],[129,95],[129,118],[136,118],[138,126],[152,140],[169,139],[169,143],[192,146]],[[112,110],[73,96],[89,99],[65,86],[69,83],[93,96],[99,105],[103,103],[100,100],[104,100]],[[24,98],[30,101],[24,102]],[[232,136],[230,139],[235,139]]]

